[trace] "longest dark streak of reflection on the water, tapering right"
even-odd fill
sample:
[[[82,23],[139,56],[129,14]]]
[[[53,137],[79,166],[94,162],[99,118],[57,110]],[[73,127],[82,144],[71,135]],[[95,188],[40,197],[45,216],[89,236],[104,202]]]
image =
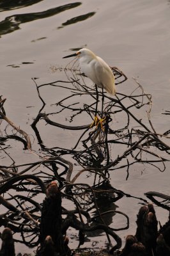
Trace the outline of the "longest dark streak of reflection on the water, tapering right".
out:
[[[37,19],[47,18],[52,15],[61,13],[65,10],[75,8],[79,5],[81,5],[81,3],[76,2],[76,3],[58,6],[56,8],[52,8],[52,9],[49,9],[44,12],[23,13],[23,14],[17,14],[17,15],[12,15],[12,16],[6,17],[6,19],[4,19],[3,21],[0,22],[0,36],[5,35],[7,33],[11,33],[17,29],[20,29],[19,25],[21,23],[30,22],[30,21],[37,20]]]

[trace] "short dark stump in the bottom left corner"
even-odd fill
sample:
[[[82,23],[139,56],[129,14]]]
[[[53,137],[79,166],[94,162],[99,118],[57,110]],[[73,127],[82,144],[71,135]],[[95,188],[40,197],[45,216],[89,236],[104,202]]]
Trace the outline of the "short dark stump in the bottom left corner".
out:
[[[0,256],[15,256],[14,241],[10,228],[4,228],[1,239],[3,243],[1,245]]]

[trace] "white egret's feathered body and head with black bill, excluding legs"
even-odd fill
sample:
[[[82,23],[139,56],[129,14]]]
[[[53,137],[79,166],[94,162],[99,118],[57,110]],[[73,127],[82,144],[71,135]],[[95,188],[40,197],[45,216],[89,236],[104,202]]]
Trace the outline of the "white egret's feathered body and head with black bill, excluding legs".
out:
[[[92,51],[86,48],[82,48],[74,54],[63,58],[73,56],[77,56],[79,58],[81,71],[89,77],[93,83],[100,88],[104,88],[112,95],[116,93],[114,74],[112,74],[111,68],[104,60],[102,60],[102,58],[96,56]]]

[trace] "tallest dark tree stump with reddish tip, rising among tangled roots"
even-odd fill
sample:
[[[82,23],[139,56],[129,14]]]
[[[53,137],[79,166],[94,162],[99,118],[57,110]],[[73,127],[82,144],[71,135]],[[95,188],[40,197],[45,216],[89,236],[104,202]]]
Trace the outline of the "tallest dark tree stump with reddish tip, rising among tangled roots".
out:
[[[58,190],[56,182],[51,182],[47,188],[47,196],[43,201],[42,216],[40,222],[40,249],[36,253],[39,255],[54,256],[66,255],[68,245],[65,244],[65,238],[61,233],[61,193]],[[50,248],[50,249],[49,249]]]

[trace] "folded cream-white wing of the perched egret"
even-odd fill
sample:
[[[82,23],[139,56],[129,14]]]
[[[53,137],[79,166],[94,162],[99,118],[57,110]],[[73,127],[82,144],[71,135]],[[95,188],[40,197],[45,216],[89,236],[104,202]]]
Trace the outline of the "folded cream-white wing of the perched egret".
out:
[[[97,84],[100,87],[104,87],[105,90],[112,95],[115,94],[114,75],[112,74],[111,68],[105,63],[102,58],[97,57],[95,63],[95,74],[98,80]]]

